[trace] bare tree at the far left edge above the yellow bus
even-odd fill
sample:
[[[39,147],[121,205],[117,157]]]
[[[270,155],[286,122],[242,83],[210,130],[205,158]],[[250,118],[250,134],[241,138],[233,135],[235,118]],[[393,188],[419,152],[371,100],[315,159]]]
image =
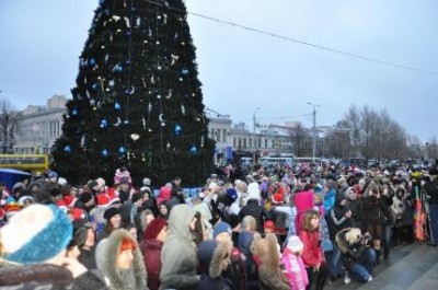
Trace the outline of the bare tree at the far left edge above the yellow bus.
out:
[[[0,138],[2,153],[12,150],[15,143],[15,134],[19,132],[19,112],[11,105],[9,100],[0,98]]]

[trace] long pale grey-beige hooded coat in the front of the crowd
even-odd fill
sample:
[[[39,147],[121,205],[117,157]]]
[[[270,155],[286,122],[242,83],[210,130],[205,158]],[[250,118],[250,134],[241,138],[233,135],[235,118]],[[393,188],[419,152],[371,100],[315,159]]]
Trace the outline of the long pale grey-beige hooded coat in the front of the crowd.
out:
[[[196,289],[196,245],[189,224],[195,211],[187,205],[176,205],[169,217],[169,234],[161,251],[160,289]]]

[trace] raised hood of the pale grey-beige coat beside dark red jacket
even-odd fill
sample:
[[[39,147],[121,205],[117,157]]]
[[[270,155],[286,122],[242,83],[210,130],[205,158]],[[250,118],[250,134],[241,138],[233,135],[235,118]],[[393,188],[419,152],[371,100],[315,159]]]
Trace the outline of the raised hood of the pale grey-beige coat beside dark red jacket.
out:
[[[176,205],[172,208],[168,220],[169,235],[193,240],[189,225],[195,217],[195,211],[187,205]]]

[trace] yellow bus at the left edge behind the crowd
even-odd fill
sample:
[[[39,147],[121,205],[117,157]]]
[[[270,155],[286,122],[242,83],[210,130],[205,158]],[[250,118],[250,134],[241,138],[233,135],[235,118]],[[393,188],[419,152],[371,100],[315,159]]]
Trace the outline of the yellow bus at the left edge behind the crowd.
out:
[[[0,169],[45,172],[48,170],[47,154],[0,154]]]

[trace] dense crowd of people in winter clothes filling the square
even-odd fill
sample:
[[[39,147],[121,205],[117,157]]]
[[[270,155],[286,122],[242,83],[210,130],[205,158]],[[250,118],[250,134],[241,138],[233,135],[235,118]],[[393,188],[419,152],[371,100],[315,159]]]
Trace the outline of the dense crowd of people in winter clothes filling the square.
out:
[[[0,289],[323,289],[438,242],[438,170],[255,164],[194,195],[49,171],[0,188]],[[155,190],[154,190],[155,189]]]

